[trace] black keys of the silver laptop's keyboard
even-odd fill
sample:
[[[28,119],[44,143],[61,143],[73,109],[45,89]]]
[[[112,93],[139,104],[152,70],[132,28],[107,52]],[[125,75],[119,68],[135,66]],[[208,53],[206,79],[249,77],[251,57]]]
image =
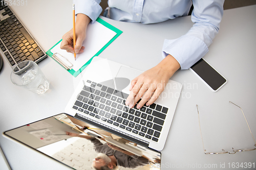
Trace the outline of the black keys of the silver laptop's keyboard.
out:
[[[89,115],[89,118],[94,117],[92,119],[97,123],[113,125],[111,127],[118,131],[158,141],[168,108],[157,104],[144,105],[140,109],[136,108],[136,104],[134,108],[129,108],[125,106],[128,94],[90,80],[87,83],[90,86],[83,87],[73,109]]]

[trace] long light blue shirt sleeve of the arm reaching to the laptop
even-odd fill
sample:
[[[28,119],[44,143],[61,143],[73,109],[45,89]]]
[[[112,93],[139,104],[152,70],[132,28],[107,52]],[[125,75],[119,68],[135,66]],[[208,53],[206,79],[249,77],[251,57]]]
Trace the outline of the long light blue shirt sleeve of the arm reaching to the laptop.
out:
[[[194,10],[191,20],[193,27],[183,36],[164,40],[162,55],[172,55],[181,69],[188,69],[207,52],[214,37],[218,34],[223,16],[224,0],[193,0]]]

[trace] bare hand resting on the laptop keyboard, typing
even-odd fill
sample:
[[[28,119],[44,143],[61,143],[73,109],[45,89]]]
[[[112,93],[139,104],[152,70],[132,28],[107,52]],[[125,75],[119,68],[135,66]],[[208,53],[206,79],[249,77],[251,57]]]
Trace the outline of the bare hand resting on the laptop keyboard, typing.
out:
[[[170,77],[179,68],[178,61],[168,55],[157,66],[143,72],[131,82],[131,93],[127,97],[125,105],[133,108],[142,96],[137,109],[140,109],[145,103],[146,106],[153,104],[164,90]]]

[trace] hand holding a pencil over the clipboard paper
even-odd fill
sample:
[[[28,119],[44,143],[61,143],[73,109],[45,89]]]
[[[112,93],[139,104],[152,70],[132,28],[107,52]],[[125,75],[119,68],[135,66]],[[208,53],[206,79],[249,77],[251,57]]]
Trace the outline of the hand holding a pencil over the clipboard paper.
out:
[[[68,53],[82,53],[84,50],[84,46],[82,46],[82,42],[86,39],[86,30],[87,26],[90,23],[91,19],[84,14],[77,14],[76,17],[76,45],[74,50],[73,45],[73,29],[62,36],[62,42],[60,44],[60,48],[62,50],[66,50]]]

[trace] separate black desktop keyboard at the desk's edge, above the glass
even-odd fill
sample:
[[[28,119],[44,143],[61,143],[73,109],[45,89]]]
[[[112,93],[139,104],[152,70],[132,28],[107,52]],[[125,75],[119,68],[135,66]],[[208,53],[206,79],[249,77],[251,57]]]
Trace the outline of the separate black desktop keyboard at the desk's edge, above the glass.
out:
[[[13,11],[4,3],[0,4],[0,15],[0,48],[12,68],[25,60],[38,63],[47,57]]]

